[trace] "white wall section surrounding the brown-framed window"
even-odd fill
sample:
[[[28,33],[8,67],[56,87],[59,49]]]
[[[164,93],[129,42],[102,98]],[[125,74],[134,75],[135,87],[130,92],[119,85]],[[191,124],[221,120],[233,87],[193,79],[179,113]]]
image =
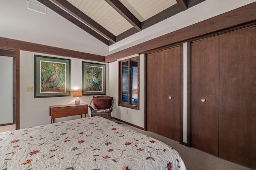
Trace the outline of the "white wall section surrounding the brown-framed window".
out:
[[[140,55],[140,109],[118,106],[118,61],[109,63],[109,95],[114,96],[112,116],[123,121],[144,127],[144,55]]]

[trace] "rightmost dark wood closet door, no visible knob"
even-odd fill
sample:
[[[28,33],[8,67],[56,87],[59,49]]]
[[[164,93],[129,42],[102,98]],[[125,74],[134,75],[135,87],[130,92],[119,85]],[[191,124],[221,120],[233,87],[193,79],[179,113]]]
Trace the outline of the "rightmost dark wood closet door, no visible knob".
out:
[[[220,158],[256,169],[256,27],[220,35]]]

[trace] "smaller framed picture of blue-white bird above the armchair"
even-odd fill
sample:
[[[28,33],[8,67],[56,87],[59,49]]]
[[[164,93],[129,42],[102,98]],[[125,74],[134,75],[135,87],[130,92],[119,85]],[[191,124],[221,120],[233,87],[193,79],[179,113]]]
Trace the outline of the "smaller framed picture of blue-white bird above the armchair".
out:
[[[106,94],[106,64],[82,62],[82,94]]]

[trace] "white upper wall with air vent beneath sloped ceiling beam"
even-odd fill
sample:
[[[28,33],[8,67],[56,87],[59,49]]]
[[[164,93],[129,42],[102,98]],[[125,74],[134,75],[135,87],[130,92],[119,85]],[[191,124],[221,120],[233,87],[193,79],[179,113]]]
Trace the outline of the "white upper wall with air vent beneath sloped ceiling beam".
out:
[[[40,4],[37,0],[30,1]],[[108,55],[108,45],[50,8],[46,14],[27,9],[27,0],[0,0],[0,37]]]

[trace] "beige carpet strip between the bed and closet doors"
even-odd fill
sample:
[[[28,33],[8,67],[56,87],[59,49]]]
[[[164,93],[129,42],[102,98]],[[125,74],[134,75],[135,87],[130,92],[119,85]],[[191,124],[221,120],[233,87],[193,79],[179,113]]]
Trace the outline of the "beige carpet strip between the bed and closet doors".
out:
[[[173,147],[180,153],[180,156],[182,157],[187,170],[251,170],[250,168],[246,168],[244,166],[218,158],[206,152],[202,152],[201,150],[186,147],[184,145],[181,145],[177,141],[174,141],[167,137],[163,137],[161,135],[157,135],[149,131],[138,129],[136,127],[127,125],[117,120],[113,121],[121,123],[121,125],[125,127],[128,127],[134,131],[138,131],[140,133],[153,137],[154,139],[162,141],[169,145],[170,147]]]

